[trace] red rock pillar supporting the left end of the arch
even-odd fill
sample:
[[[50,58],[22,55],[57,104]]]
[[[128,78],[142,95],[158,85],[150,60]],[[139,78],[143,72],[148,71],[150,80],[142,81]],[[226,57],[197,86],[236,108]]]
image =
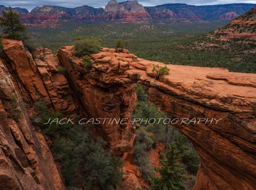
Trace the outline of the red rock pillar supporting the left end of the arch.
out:
[[[132,57],[135,56],[127,54],[124,60],[132,60]],[[84,68],[81,59],[74,57],[72,47],[61,48],[58,58],[61,65],[67,68],[70,87],[73,91],[79,92],[83,108],[91,118],[131,118],[136,101],[134,86],[119,83],[118,80],[122,78],[114,80],[109,78],[113,73],[124,73],[125,69],[129,68],[127,62],[118,64],[118,57],[116,57],[115,61],[111,62],[113,67],[109,69],[105,65],[109,64],[110,59],[103,59],[102,64],[95,64],[91,71]],[[94,69],[94,67],[97,68]],[[123,125],[107,122],[96,126],[96,129],[109,143],[115,155],[127,156],[127,153],[132,150],[134,126],[131,120]]]

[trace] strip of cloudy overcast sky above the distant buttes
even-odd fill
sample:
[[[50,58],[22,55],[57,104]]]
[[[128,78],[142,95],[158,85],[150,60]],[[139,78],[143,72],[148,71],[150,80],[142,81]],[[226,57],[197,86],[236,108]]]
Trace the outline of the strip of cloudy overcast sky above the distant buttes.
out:
[[[125,1],[125,0],[124,0]],[[118,0],[118,2],[123,2]],[[228,3],[253,3],[256,4],[256,1],[244,1],[244,0],[140,0],[140,4],[143,6],[155,6],[159,4],[166,4],[166,3],[186,3],[186,4],[195,4],[195,5],[203,5],[203,4],[228,4]],[[12,6],[12,7],[20,7],[20,8],[27,8],[29,11],[36,6],[43,6],[43,5],[56,5],[56,6],[65,6],[68,8],[74,8],[77,6],[93,6],[95,8],[98,7],[105,7],[108,4],[107,1],[101,0],[21,0],[21,1],[10,1],[10,0],[1,0],[1,5],[4,6]]]

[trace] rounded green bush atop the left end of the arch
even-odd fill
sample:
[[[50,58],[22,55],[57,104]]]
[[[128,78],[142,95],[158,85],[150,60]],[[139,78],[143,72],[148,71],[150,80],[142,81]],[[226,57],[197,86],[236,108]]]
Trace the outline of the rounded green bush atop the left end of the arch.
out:
[[[84,55],[97,54],[102,48],[102,40],[98,38],[86,38],[75,42],[75,55],[83,57]]]

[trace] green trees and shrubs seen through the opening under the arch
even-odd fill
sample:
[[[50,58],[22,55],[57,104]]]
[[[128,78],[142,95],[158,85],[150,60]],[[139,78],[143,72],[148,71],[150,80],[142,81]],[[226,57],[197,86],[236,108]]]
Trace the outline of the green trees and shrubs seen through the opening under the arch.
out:
[[[139,84],[136,86],[136,94],[138,97],[134,110],[136,117],[145,120],[167,117],[166,113],[159,112],[156,105],[148,104],[148,95]],[[165,147],[164,152],[161,152],[163,166],[156,168],[157,172],[163,174],[163,179],[154,175],[154,168],[150,166],[148,160],[148,152],[156,148],[158,143],[163,143]],[[200,159],[186,136],[179,133],[173,126],[145,123],[136,131],[133,161],[139,166],[143,179],[150,184],[151,189],[158,187],[192,189]],[[166,180],[168,177],[170,177],[169,180]]]

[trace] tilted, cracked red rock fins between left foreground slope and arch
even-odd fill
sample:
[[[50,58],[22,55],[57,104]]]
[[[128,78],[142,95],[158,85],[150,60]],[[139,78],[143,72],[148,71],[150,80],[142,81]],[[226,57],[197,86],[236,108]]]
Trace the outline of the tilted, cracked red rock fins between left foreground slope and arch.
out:
[[[45,101],[67,115],[76,111],[68,82],[51,50],[37,48],[32,56],[21,41],[3,40],[2,57],[15,76],[22,98],[27,103]]]

